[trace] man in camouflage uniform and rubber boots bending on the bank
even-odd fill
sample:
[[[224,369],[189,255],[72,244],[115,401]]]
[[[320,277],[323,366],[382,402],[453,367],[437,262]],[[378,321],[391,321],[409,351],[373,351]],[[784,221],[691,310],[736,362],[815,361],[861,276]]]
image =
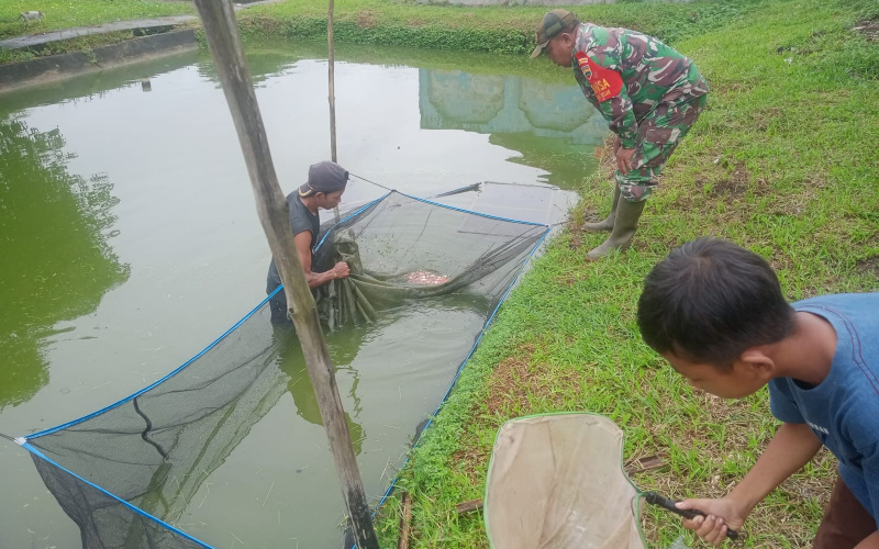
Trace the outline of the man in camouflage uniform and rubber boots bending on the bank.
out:
[[[587,254],[597,260],[632,243],[657,176],[705,108],[708,83],[692,60],[659,40],[627,29],[580,23],[566,10],[544,14],[536,41],[531,57],[546,52],[556,65],[571,67],[586,99],[616,134],[610,215],[585,226],[592,233],[611,233]]]

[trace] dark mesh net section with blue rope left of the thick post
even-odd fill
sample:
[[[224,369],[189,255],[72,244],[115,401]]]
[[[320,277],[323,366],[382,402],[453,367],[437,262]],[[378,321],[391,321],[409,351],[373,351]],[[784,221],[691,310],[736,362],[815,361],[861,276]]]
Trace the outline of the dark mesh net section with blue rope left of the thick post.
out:
[[[260,306],[153,389],[30,439],[40,452],[32,455],[37,470],[79,526],[82,547],[203,547],[122,502],[175,523],[201,482],[275,404],[285,390],[274,363],[281,341],[258,329],[269,316]]]

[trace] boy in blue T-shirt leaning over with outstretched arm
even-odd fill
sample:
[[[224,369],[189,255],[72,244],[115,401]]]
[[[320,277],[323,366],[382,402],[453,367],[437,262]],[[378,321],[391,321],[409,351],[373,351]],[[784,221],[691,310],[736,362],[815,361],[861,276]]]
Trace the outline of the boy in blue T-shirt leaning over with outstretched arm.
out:
[[[644,341],[691,385],[741,399],[769,385],[782,422],[757,463],[719,500],[686,500],[708,516],[687,528],[720,546],[769,492],[826,446],[839,473],[817,549],[879,548],[879,293],[789,305],[756,254],[715,239],[657,264],[638,301]]]

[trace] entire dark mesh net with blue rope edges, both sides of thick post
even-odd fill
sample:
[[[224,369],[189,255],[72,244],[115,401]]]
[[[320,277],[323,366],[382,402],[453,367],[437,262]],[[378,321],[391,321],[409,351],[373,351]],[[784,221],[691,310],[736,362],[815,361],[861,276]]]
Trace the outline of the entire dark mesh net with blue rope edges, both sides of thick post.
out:
[[[437,296],[447,296],[453,307],[478,304],[487,324],[547,231],[390,193],[322,236],[314,270],[347,260],[353,272],[319,292],[324,330],[380,320],[412,300],[430,305]],[[194,539],[176,523],[288,389],[278,357],[296,335],[272,326],[270,316],[266,301],[163,380],[25,437],[46,486],[79,526],[82,547],[219,544]],[[469,348],[478,336],[449,337],[472,341]]]

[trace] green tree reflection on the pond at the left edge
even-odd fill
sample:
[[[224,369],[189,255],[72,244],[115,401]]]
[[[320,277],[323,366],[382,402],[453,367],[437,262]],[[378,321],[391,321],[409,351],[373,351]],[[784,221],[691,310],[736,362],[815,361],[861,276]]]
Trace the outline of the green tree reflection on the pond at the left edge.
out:
[[[58,128],[0,120],[0,410],[48,381],[42,340],[89,314],[129,268],[108,245],[115,216],[107,175],[70,173]]]

